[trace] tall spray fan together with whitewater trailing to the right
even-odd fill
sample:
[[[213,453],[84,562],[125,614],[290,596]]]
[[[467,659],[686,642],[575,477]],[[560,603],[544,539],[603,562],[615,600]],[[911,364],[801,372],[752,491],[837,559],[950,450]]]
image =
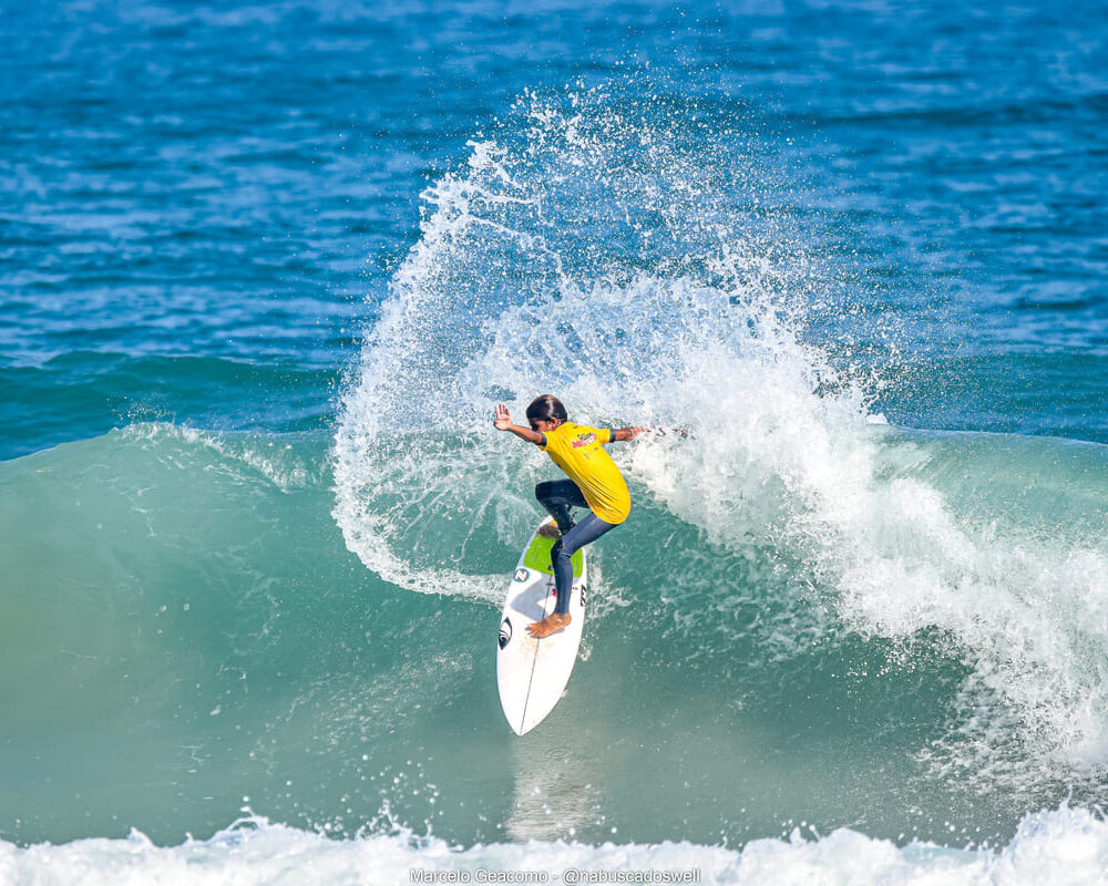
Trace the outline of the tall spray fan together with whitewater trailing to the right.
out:
[[[402,588],[495,600],[486,564],[526,535],[546,470],[491,430],[495,402],[553,391],[578,421],[680,425],[614,450],[640,532],[689,527],[709,564],[664,579],[678,626],[738,594],[777,612],[774,655],[848,636],[937,651],[968,672],[920,760],[993,786],[1095,781],[1108,450],[885,426],[895,330],[831,319],[818,262],[751,209],[757,164],[606,101],[531,96],[524,138],[473,143],[424,193],[342,399],[347,546]]]

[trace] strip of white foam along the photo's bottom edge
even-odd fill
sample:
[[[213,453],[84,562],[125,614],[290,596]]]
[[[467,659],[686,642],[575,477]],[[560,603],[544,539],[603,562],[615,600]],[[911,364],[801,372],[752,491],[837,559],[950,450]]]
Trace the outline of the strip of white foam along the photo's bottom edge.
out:
[[[434,873],[438,882],[504,882],[497,875],[534,872],[567,883],[565,872],[632,880],[643,872],[697,877],[698,884],[851,884],[851,886],[1054,886],[1104,883],[1108,823],[1084,808],[1061,806],[1024,817],[1001,849],[967,851],[929,843],[897,847],[854,831],[804,839],[756,839],[742,849],[691,843],[611,844],[530,841],[451,846],[410,833],[330,839],[260,817],[236,822],[209,839],[155,846],[137,831],[125,839],[79,839],[28,847],[0,841],[0,884],[11,886],[407,886]],[[416,877],[416,878],[413,878]],[[650,882],[659,882],[657,879]],[[679,880],[677,880],[679,882]]]

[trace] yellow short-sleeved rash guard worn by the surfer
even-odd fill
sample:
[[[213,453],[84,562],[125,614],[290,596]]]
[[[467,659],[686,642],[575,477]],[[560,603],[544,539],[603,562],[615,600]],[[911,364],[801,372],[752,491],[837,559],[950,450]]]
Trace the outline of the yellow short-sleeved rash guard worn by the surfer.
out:
[[[538,449],[577,484],[596,516],[618,524],[630,513],[630,493],[616,463],[601,445],[612,439],[613,432],[606,427],[565,422],[543,434]]]

